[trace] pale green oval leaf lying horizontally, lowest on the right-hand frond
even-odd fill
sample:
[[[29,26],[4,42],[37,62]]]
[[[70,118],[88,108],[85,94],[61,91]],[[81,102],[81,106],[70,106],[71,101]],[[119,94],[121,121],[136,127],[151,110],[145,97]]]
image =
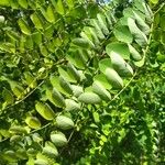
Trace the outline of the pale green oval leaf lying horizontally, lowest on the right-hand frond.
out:
[[[101,99],[95,92],[84,92],[78,97],[78,101],[82,103],[98,105],[101,102]]]

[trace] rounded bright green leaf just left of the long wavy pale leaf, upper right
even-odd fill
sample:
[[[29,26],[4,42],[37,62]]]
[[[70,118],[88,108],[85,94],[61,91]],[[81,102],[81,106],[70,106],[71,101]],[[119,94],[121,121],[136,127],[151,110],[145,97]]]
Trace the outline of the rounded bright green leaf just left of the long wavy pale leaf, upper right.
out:
[[[129,28],[125,25],[119,25],[114,28],[113,33],[114,33],[114,36],[121,42],[132,43],[133,41],[132,34],[130,33]]]

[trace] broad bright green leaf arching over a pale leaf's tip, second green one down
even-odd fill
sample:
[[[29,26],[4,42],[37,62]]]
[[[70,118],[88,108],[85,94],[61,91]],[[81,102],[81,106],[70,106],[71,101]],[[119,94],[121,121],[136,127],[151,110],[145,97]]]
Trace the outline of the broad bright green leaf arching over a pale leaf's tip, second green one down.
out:
[[[116,52],[120,54],[124,59],[130,59],[130,51],[127,44],[124,43],[118,43],[113,42],[106,46],[106,53],[108,55],[111,54],[111,52]]]

